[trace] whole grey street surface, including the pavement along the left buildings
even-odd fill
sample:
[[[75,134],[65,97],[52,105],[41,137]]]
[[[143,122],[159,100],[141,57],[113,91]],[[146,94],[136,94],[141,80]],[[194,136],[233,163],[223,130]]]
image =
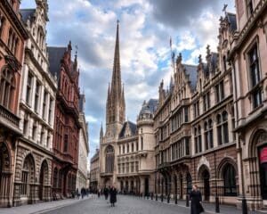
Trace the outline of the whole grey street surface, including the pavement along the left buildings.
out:
[[[184,201],[178,205],[171,201],[156,202],[136,198],[133,196],[118,195],[116,207],[111,208],[107,201],[96,195],[84,200],[67,199],[57,202],[43,202],[33,205],[0,209],[0,214],[190,214],[190,209],[185,207]],[[214,204],[204,203],[205,213],[214,213]],[[232,206],[221,205],[222,214],[241,214]],[[249,214],[263,214],[267,212],[249,212]]]

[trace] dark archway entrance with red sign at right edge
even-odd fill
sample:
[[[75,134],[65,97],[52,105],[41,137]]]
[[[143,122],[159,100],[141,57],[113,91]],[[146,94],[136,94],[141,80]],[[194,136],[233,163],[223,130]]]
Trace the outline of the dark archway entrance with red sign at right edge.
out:
[[[267,144],[259,147],[258,152],[261,192],[263,200],[267,200]]]

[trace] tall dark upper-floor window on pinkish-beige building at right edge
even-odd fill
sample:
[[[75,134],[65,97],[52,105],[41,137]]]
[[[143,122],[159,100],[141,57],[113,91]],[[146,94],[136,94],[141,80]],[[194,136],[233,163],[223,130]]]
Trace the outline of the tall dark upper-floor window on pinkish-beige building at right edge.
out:
[[[258,57],[258,47],[255,45],[251,51],[248,53],[249,57],[249,70],[251,78],[251,87],[255,88],[252,92],[253,96],[253,107],[256,108],[263,103],[262,91],[263,89],[258,86],[261,80],[259,57]],[[257,87],[258,86],[258,87]]]

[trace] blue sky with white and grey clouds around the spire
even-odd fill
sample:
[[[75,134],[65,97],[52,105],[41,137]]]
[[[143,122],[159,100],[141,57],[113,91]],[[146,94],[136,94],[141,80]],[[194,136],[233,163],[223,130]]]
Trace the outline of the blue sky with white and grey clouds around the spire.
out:
[[[158,98],[166,85],[173,50],[184,63],[196,64],[206,45],[216,51],[223,4],[234,12],[234,0],[48,0],[48,45],[78,46],[80,88],[85,93],[90,128],[90,157],[99,146],[101,121],[111,79],[117,20],[120,21],[120,62],[125,84],[126,117],[135,121],[143,100]],[[21,8],[36,7],[22,0]],[[74,49],[74,48],[73,48]]]

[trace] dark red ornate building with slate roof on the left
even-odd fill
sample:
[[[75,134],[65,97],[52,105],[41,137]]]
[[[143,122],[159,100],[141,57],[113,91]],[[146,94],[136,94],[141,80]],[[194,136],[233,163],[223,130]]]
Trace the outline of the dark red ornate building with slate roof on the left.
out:
[[[71,60],[68,47],[48,47],[50,70],[58,78],[54,132],[52,192],[56,197],[69,197],[76,189],[79,129],[79,70],[77,55]]]

